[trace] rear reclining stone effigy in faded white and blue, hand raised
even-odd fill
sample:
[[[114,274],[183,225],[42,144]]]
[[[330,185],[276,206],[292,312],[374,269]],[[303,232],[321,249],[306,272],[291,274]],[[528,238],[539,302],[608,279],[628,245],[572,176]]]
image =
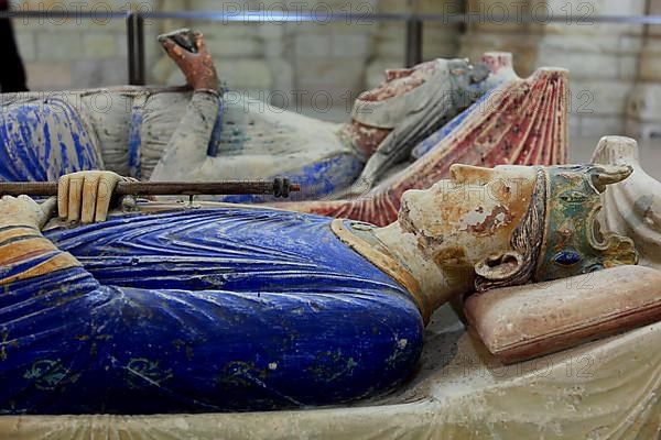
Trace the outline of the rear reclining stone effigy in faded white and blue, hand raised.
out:
[[[389,70],[364,94],[353,122],[333,124],[218,88],[198,36],[192,53],[162,43],[186,75],[185,89],[124,87],[2,95],[0,179],[55,180],[109,169],[150,180],[246,180],[290,177],[300,199],[317,199],[371,182],[488,89],[513,77],[507,55],[474,67],[436,59]],[[490,70],[489,70],[490,68]],[[365,169],[364,169],[365,167]],[[266,197],[226,198],[267,201]]]

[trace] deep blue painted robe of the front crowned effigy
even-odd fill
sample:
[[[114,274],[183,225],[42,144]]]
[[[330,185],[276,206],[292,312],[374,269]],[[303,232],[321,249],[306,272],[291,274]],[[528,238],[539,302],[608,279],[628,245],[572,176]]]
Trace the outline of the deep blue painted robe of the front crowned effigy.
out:
[[[232,208],[48,231],[58,250],[0,268],[0,414],[270,410],[395,386],[422,319],[329,221]],[[63,252],[83,267],[3,282]]]

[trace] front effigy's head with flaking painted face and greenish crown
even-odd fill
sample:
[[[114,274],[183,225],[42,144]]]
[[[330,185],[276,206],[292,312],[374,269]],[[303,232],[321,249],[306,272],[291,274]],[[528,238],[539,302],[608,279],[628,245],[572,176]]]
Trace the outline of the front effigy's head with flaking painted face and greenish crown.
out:
[[[402,197],[400,227],[441,270],[473,268],[486,288],[636,264],[632,242],[597,224],[606,185],[628,167],[454,165],[452,179]]]

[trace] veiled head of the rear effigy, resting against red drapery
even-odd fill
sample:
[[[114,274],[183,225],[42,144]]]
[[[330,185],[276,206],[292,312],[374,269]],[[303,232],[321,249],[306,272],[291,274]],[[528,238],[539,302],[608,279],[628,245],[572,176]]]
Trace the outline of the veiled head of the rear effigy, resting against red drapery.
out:
[[[446,75],[469,74],[469,84],[448,89]],[[487,76],[488,75],[488,76]],[[412,69],[386,72],[386,81],[358,97],[351,123],[343,128],[346,142],[369,157],[360,177],[349,190],[369,190],[393,166],[407,162],[413,146],[441,129],[455,110],[466,109],[476,99],[502,82],[518,79],[509,53],[490,52],[470,72],[465,62],[443,61],[423,63]],[[465,81],[465,79],[464,79]],[[449,118],[448,118],[449,117]]]

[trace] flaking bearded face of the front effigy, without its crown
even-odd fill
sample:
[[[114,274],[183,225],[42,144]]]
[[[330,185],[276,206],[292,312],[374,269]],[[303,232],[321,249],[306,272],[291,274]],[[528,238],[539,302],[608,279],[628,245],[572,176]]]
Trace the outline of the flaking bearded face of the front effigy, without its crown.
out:
[[[402,197],[401,227],[441,266],[474,267],[486,255],[510,249],[512,232],[528,211],[535,169],[454,165],[452,178]]]

